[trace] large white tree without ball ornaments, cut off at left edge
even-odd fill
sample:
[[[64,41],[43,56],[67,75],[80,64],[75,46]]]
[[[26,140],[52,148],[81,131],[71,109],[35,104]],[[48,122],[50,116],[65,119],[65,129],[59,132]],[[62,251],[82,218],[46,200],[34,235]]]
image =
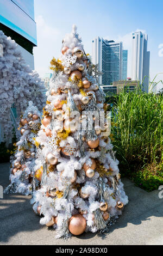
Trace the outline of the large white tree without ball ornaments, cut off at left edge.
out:
[[[0,31],[0,124],[5,138],[12,136],[10,108],[15,103],[17,115],[25,111],[32,100],[41,111],[45,104],[45,89],[39,75],[24,62],[14,40]]]

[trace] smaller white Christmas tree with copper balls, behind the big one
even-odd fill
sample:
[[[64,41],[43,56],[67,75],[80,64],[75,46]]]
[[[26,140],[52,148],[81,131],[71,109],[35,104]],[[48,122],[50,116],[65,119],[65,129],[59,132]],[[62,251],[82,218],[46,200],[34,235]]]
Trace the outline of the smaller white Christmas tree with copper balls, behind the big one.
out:
[[[36,146],[35,137],[40,130],[40,112],[32,101],[20,120],[21,138],[16,143],[16,152],[11,157],[10,185],[4,193],[32,194],[39,186],[35,180]]]

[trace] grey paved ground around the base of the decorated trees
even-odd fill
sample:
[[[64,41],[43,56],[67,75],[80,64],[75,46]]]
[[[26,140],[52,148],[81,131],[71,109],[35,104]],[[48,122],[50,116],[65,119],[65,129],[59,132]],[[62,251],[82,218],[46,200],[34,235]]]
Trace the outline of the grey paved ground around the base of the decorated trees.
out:
[[[0,185],[9,184],[9,163],[0,164]],[[31,196],[4,194],[0,199],[0,245],[163,245],[163,199],[160,191],[146,192],[124,178],[129,203],[109,233],[83,233],[65,242],[55,230],[39,224]]]

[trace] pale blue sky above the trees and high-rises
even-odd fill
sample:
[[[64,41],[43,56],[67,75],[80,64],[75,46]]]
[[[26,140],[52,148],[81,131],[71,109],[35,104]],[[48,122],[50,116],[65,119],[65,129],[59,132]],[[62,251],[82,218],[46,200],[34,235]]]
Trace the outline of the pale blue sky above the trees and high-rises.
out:
[[[49,71],[52,57],[60,56],[61,40],[73,24],[77,25],[85,51],[90,54],[95,36],[122,40],[123,47],[129,50],[128,76],[131,33],[137,29],[145,31],[151,52],[151,80],[163,72],[162,0],[34,0],[34,4],[38,45],[34,50],[35,69],[41,76]],[[158,75],[157,80],[160,79],[163,80],[163,74]]]

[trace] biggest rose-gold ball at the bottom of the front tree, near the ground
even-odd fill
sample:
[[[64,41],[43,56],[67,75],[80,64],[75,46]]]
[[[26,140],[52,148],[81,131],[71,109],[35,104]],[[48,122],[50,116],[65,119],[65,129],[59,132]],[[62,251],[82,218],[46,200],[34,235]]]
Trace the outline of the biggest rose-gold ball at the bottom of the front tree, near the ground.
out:
[[[81,235],[86,228],[86,220],[81,214],[74,214],[68,224],[68,229],[73,235]]]

